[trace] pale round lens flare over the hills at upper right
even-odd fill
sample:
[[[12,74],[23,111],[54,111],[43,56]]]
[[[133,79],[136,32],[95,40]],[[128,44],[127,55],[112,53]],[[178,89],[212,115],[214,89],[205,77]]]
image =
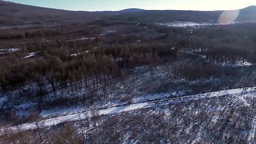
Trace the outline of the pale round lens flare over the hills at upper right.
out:
[[[219,16],[220,25],[229,25],[234,22],[239,15],[239,10],[226,10]]]

